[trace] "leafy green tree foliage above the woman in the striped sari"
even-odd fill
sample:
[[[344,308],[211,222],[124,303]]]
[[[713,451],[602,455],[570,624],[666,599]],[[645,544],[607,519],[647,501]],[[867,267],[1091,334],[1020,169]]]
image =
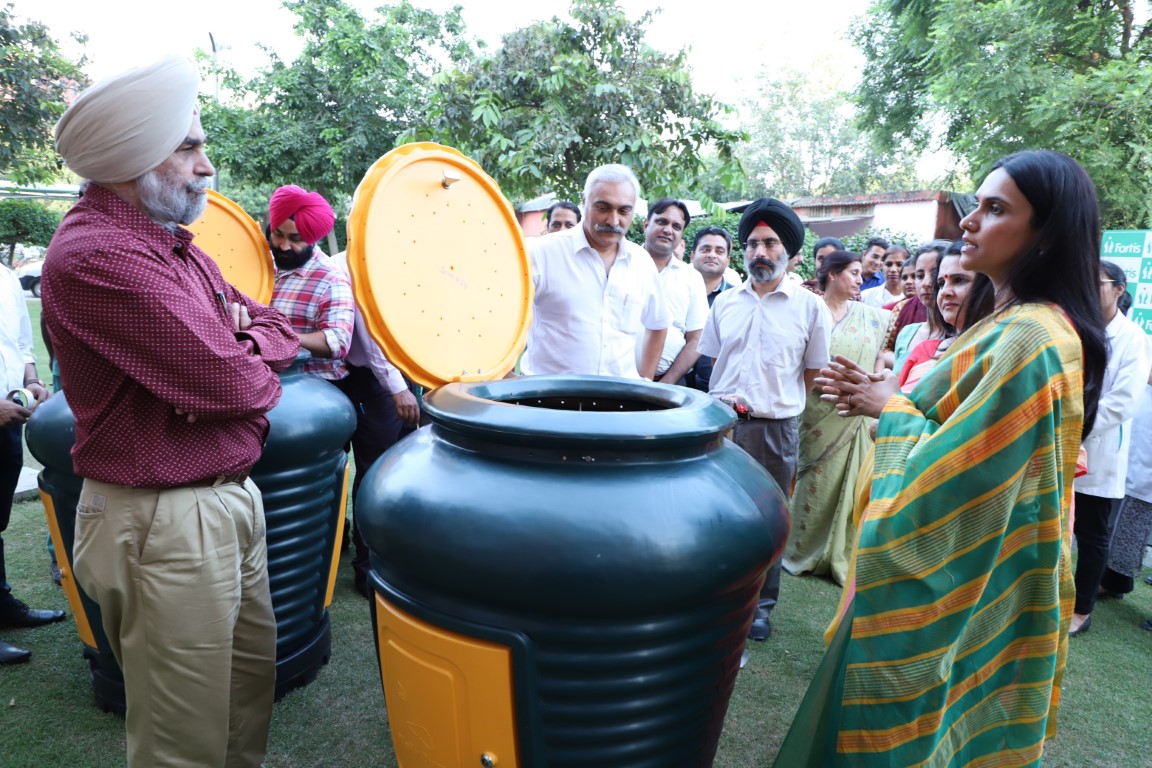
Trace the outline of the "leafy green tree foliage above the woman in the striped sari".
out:
[[[1066,152],[1106,226],[1152,226],[1147,14],[1131,0],[877,0],[854,32],[862,124],[888,151],[942,143],[977,177],[1010,152]]]

